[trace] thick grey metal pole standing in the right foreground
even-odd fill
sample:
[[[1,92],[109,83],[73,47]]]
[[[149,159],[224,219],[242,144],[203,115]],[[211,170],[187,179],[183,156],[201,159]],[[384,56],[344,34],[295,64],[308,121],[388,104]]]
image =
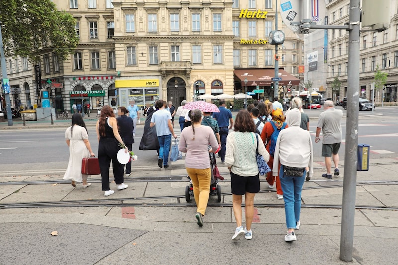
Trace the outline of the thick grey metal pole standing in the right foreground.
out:
[[[341,213],[340,259],[352,261],[354,242],[355,194],[357,182],[359,112],[359,21],[360,0],[350,0],[348,35],[347,120],[344,153],[343,205]]]

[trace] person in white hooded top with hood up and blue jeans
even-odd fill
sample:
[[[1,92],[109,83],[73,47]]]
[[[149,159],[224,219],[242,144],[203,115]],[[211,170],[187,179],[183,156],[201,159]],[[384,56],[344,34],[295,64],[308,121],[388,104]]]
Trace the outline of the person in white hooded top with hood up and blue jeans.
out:
[[[279,133],[275,146],[272,174],[281,181],[285,202],[285,219],[288,228],[285,241],[296,240],[295,229],[300,228],[301,191],[304,177],[309,168],[309,177],[313,174],[312,140],[309,131],[300,128],[301,112],[291,109],[286,115],[289,128]],[[293,167],[285,170],[285,168]],[[296,172],[297,171],[297,172]],[[297,173],[297,174],[296,174]]]

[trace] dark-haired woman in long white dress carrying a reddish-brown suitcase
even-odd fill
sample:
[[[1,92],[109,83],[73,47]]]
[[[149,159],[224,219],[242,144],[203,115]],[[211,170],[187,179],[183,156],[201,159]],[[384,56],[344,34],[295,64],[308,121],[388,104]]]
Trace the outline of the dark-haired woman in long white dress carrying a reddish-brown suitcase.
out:
[[[74,187],[76,187],[76,182],[83,182],[83,188],[91,185],[87,183],[88,175],[82,174],[82,159],[94,157],[88,138],[82,115],[80,113],[73,114],[72,126],[65,131],[66,144],[69,146],[69,163],[64,179],[72,180]]]

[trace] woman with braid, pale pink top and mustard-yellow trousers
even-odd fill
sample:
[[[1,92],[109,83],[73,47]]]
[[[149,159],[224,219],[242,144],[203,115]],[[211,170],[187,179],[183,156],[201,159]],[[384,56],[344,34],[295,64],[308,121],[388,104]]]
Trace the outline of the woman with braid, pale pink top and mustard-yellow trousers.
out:
[[[187,153],[185,168],[194,188],[194,198],[197,205],[195,218],[199,226],[203,226],[202,217],[206,212],[210,195],[211,166],[209,152],[218,149],[218,142],[213,129],[202,125],[202,118],[202,112],[199,109],[192,110],[192,125],[184,128],[181,132],[178,144],[178,150]],[[211,146],[210,149],[209,145]]]

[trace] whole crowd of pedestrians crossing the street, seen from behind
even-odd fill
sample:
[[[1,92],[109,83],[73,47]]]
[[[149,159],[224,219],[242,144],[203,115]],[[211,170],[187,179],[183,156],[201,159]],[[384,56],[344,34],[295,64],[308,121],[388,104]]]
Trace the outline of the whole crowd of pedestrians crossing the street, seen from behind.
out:
[[[231,175],[231,192],[236,229],[232,240],[245,236],[252,239],[254,197],[260,191],[260,179],[264,177],[268,188],[276,184],[277,199],[285,204],[287,234],[285,241],[296,240],[295,230],[300,228],[301,191],[303,183],[313,175],[313,148],[309,133],[309,118],[301,107],[298,97],[291,100],[290,108],[283,112],[277,98],[271,102],[257,102],[240,110],[235,118],[226,108],[225,100],[219,100],[219,112],[203,112],[185,108],[186,100],[177,109],[172,102],[157,100],[154,106],[147,105],[144,133],[141,139],[143,150],[156,149],[158,166],[169,167],[171,137],[174,133],[174,116],[179,117],[181,130],[178,150],[186,153],[185,167],[192,181],[197,224],[203,226],[203,217],[210,194],[211,163],[209,153],[218,152],[222,164],[226,164]],[[331,179],[331,164],[334,162],[334,175],[339,175],[338,151],[341,144],[342,111],[333,107],[332,101],[325,101],[325,111],[319,116],[315,142],[323,133],[322,156],[325,157],[326,173],[322,177]],[[114,193],[109,184],[109,168],[112,162],[116,188],[128,187],[124,184],[124,164],[118,161],[117,153],[124,149],[132,151],[139,109],[134,100],[130,105],[120,107],[116,119],[113,109],[104,106],[96,124],[99,142],[98,160],[105,196]],[[233,132],[229,130],[233,128]],[[152,137],[151,137],[152,135]],[[83,182],[83,188],[90,186],[88,175],[80,172],[82,159],[94,157],[88,140],[87,129],[82,115],[72,116],[72,126],[65,132],[66,143],[70,148],[70,160],[64,179],[71,180],[72,186]],[[155,141],[156,140],[156,141]],[[143,143],[144,142],[144,143]],[[149,144],[150,143],[150,144]],[[151,145],[151,147],[148,147]],[[258,153],[257,153],[258,152]],[[257,155],[267,162],[270,172],[259,175]],[[131,174],[131,161],[125,165],[125,174]],[[242,224],[242,201],[244,195],[245,227]]]

